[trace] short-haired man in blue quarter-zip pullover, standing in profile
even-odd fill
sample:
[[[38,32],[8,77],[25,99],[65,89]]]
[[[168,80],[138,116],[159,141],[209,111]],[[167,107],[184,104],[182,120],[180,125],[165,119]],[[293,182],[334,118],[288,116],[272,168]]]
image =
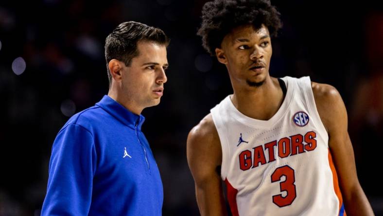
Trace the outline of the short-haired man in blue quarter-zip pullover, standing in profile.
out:
[[[162,30],[133,21],[106,37],[108,95],[58,132],[42,216],[161,215],[162,182],[140,113],[163,94],[168,44]]]

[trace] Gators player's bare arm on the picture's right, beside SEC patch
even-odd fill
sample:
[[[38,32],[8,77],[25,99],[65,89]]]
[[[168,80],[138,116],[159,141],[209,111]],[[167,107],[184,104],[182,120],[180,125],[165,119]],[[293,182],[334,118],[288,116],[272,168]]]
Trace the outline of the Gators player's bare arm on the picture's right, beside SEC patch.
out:
[[[374,213],[359,183],[354,151],[348,136],[346,107],[339,92],[326,84],[312,83],[319,116],[329,134],[329,147],[339,178],[348,216],[373,216]]]

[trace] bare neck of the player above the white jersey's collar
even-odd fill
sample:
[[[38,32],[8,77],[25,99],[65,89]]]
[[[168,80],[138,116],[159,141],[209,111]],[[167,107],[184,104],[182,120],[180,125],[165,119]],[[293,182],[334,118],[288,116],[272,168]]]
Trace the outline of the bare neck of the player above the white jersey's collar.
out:
[[[234,89],[231,101],[244,115],[258,120],[269,120],[279,110],[283,98],[278,79],[267,77],[259,87]]]

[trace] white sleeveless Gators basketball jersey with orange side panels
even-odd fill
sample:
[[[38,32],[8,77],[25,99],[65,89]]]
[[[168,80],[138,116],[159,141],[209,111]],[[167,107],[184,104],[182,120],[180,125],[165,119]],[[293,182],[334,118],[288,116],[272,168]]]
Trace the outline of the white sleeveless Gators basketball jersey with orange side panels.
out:
[[[249,118],[227,96],[211,114],[222,146],[221,177],[233,216],[345,215],[329,137],[309,77],[282,78],[277,113]]]

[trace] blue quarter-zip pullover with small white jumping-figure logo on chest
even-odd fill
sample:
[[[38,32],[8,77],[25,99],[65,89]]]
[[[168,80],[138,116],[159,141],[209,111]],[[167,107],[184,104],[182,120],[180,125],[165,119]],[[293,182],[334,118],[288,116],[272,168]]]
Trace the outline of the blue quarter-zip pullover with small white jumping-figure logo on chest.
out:
[[[144,117],[109,96],[72,116],[52,146],[42,216],[160,216],[163,189]]]

